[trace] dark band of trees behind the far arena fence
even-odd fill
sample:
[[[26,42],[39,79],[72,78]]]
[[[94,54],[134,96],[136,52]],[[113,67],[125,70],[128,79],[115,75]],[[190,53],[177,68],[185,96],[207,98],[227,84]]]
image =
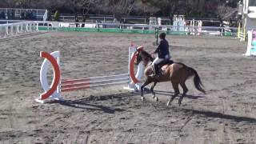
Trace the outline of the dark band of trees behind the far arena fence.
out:
[[[186,18],[217,18],[225,10],[235,8],[239,0],[0,0],[0,7],[38,8],[61,14],[113,14],[170,17],[185,14]],[[226,2],[228,2],[226,4]],[[225,4],[225,5],[223,5]],[[229,10],[227,10],[229,11]],[[232,11],[232,10],[231,10]],[[226,16],[223,16],[223,18]]]

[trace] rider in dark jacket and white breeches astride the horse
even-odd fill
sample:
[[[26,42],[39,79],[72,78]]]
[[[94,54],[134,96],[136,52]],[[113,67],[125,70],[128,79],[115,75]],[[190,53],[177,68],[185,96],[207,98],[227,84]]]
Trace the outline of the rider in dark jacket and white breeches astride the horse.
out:
[[[163,66],[170,60],[170,51],[169,51],[169,43],[166,41],[166,34],[161,33],[159,34],[160,38],[160,45],[154,52],[151,54],[158,54],[158,58],[154,59],[152,65],[154,66],[154,76],[159,76],[158,72],[160,66]]]

